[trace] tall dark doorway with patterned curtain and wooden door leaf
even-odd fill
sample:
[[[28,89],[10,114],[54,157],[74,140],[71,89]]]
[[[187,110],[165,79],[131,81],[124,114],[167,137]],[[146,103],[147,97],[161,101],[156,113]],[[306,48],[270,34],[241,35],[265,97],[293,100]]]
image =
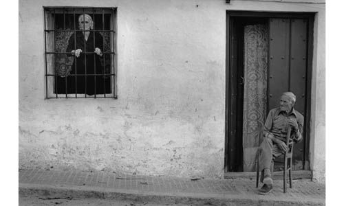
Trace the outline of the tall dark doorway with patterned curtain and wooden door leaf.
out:
[[[225,172],[255,171],[266,115],[284,91],[297,95],[294,107],[305,117],[293,170],[309,170],[312,16],[227,12]]]

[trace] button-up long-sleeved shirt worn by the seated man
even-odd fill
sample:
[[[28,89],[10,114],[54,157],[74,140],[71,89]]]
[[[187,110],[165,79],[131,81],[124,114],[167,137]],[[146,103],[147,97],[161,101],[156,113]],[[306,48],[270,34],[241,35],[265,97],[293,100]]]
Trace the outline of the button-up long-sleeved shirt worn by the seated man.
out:
[[[294,108],[292,108],[292,111],[289,114],[285,111],[281,111],[280,108],[272,108],[264,124],[264,137],[268,137],[268,134],[270,133],[277,139],[286,142],[288,119],[296,119],[299,127],[299,129],[292,130],[290,138],[294,139],[294,141],[301,141],[303,132],[303,115]]]

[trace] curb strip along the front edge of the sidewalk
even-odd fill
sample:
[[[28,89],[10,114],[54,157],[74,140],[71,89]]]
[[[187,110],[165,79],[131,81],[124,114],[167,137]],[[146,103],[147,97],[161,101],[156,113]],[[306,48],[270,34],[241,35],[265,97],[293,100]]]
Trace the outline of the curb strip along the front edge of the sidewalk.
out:
[[[259,198],[244,195],[224,194],[193,194],[171,192],[144,192],[138,190],[114,190],[100,187],[80,187],[65,185],[38,185],[19,183],[19,195],[21,196],[58,196],[60,198],[102,198],[116,201],[136,201],[160,204],[192,204],[192,205],[325,205],[325,201],[305,199],[295,201],[271,196],[259,196]]]

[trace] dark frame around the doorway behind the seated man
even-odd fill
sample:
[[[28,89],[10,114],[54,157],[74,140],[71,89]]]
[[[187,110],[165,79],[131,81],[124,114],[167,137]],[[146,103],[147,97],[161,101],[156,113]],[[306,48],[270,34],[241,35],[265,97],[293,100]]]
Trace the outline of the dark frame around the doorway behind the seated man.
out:
[[[237,10],[226,10],[226,109],[225,109],[225,146],[224,146],[224,172],[229,172],[230,158],[230,111],[231,108],[231,95],[228,95],[231,91],[230,87],[230,73],[232,72],[231,63],[231,45],[230,41],[232,38],[231,32],[231,18],[237,16],[241,17],[265,17],[265,18],[296,18],[296,19],[308,19],[308,61],[306,65],[306,93],[305,93],[305,124],[303,127],[305,137],[305,145],[303,148],[305,161],[303,162],[303,170],[310,170],[310,116],[311,116],[311,91],[312,91],[312,57],[313,57],[313,45],[314,45],[314,15],[316,12],[255,12],[255,11],[237,11]],[[225,175],[226,176],[226,175]]]

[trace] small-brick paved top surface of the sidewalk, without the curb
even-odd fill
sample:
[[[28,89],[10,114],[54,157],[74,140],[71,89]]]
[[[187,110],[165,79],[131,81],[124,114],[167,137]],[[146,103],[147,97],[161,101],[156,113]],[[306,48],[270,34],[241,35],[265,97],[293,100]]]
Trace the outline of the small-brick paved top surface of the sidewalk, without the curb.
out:
[[[257,194],[255,179],[182,179],[166,176],[141,176],[109,172],[80,172],[21,169],[19,187],[78,187],[82,190],[116,191],[136,194],[191,196],[202,198],[248,198],[272,201],[312,201],[325,204],[325,185],[309,179],[294,180],[293,188],[283,193],[283,181],[274,181],[272,193]],[[261,185],[259,185],[261,187]]]

